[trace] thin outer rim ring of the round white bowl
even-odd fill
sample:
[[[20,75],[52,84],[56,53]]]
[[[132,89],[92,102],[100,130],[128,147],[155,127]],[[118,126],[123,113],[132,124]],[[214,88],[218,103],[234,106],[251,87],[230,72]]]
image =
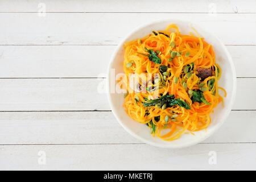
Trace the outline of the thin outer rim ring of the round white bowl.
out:
[[[130,129],[128,129],[123,123],[122,123],[122,119],[118,117],[117,115],[117,111],[114,110],[114,105],[113,105],[113,102],[112,102],[112,97],[111,97],[111,94],[110,94],[110,69],[112,67],[112,64],[113,64],[113,60],[115,58],[115,56],[117,55],[119,49],[123,46],[123,44],[127,41],[127,38],[129,38],[131,35],[133,35],[135,32],[141,30],[142,28],[144,27],[147,27],[147,26],[150,26],[150,25],[153,25],[153,24],[156,24],[156,23],[168,23],[168,22],[180,22],[180,23],[185,23],[185,24],[188,24],[188,25],[193,25],[192,27],[195,28],[196,30],[202,30],[204,32],[207,32],[207,34],[209,36],[211,36],[212,38],[216,39],[218,44],[220,44],[221,48],[224,50],[226,56],[228,57],[228,61],[229,61],[229,64],[230,64],[230,69],[232,71],[232,75],[233,75],[233,92],[232,92],[232,96],[230,97],[230,104],[228,106],[228,111],[226,111],[226,113],[224,114],[224,116],[220,119],[220,123],[218,125],[216,125],[214,127],[213,130],[211,131],[208,131],[207,134],[205,134],[203,137],[197,139],[197,140],[194,140],[193,142],[190,142],[190,143],[185,143],[185,144],[180,144],[178,146],[175,146],[173,144],[171,144],[170,142],[170,145],[164,145],[164,144],[160,144],[160,143],[155,143],[155,142],[151,142],[149,140],[146,140],[144,139],[143,137],[141,137],[140,135],[138,134],[135,134],[133,131],[131,131]],[[233,63],[233,59],[232,59],[232,56],[230,55],[228,49],[226,48],[226,46],[221,42],[221,40],[216,36],[214,35],[212,32],[208,31],[208,30],[205,30],[204,28],[200,27],[197,23],[194,23],[194,22],[187,22],[187,21],[184,21],[184,20],[180,20],[180,19],[162,19],[162,20],[154,20],[152,22],[148,22],[148,23],[144,23],[142,24],[141,26],[138,26],[137,28],[135,28],[133,31],[129,32],[129,34],[125,35],[122,40],[118,43],[118,46],[115,48],[111,58],[110,58],[110,62],[109,62],[109,65],[108,65],[108,74],[107,74],[107,79],[106,79],[106,89],[107,89],[107,95],[108,95],[108,100],[109,100],[109,104],[110,104],[110,108],[112,109],[112,112],[114,114],[114,117],[117,119],[118,123],[123,127],[123,129],[125,129],[130,135],[132,135],[134,138],[137,138],[138,140],[141,140],[141,142],[144,142],[144,143],[147,143],[147,144],[150,144],[151,146],[155,146],[155,147],[160,147],[160,148],[184,148],[184,147],[189,147],[189,146],[192,146],[192,145],[195,145],[197,143],[200,143],[202,142],[203,140],[209,138],[214,132],[216,132],[222,125],[223,123],[226,121],[226,119],[228,118],[231,110],[232,110],[232,107],[234,105],[234,100],[236,98],[236,92],[237,92],[237,77],[236,77],[236,69],[234,67],[234,63]]]

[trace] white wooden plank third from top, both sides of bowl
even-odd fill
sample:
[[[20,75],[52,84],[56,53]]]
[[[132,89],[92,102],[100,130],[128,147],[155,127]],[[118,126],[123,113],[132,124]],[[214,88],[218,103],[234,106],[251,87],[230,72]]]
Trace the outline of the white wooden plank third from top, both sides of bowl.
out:
[[[0,46],[0,77],[106,77],[115,48],[116,46]],[[233,57],[237,77],[256,77],[256,46],[227,48]]]

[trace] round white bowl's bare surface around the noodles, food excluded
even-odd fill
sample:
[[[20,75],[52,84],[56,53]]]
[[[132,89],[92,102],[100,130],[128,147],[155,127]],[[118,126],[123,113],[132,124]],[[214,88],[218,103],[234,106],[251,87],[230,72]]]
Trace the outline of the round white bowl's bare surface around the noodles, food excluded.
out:
[[[129,40],[142,38],[150,34],[153,30],[164,30],[168,24],[175,23],[180,28],[181,34],[189,34],[192,31],[191,27],[195,28],[201,37],[212,44],[216,55],[216,63],[222,68],[222,76],[218,84],[226,89],[227,96],[224,98],[225,105],[219,104],[215,109],[214,113],[210,115],[212,122],[210,123],[207,130],[196,131],[195,135],[183,134],[179,139],[171,142],[166,142],[159,139],[158,137],[152,137],[150,130],[146,125],[138,123],[131,119],[123,109],[123,94],[110,93],[110,69],[115,69],[115,75],[117,73],[123,73],[123,44]],[[123,128],[133,135],[135,138],[141,140],[144,143],[151,144],[152,146],[164,147],[164,148],[182,148],[191,146],[193,144],[202,142],[207,139],[216,131],[225,119],[228,117],[230,110],[232,109],[235,94],[236,94],[236,71],[234,69],[232,58],[227,51],[224,44],[216,38],[216,36],[204,31],[199,26],[180,20],[163,20],[150,24],[146,24],[137,30],[131,32],[126,38],[119,44],[113,54],[112,60],[109,64],[108,73],[108,96],[110,106],[112,107],[113,114],[117,118],[117,121],[123,126]]]

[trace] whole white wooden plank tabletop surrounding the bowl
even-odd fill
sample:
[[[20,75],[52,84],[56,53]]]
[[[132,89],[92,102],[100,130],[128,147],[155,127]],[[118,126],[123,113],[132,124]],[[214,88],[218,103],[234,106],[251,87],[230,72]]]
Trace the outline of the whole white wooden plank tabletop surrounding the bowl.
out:
[[[180,150],[131,137],[97,92],[123,36],[163,18],[216,34],[237,71],[228,120]],[[0,169],[256,169],[255,1],[1,1],[0,20]]]

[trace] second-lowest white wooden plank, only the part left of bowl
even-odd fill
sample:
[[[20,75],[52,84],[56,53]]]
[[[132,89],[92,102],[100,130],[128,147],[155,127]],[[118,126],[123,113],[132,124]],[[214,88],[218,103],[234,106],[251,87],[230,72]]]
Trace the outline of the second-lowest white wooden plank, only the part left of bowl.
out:
[[[138,143],[138,140],[122,129],[110,111],[0,113],[0,144],[55,143]]]

